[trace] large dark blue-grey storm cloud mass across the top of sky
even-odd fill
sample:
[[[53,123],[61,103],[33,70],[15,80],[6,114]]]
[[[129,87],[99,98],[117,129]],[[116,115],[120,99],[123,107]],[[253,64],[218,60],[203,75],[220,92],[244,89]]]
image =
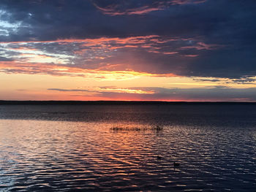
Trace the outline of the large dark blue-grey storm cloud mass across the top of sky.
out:
[[[256,75],[254,0],[1,0],[0,7],[1,42],[149,35],[157,35],[162,42],[181,39],[159,42],[151,51],[122,45],[103,60],[86,61],[82,56],[69,59],[78,67],[104,69],[110,63],[123,63],[120,69],[126,65],[140,72],[188,77]],[[31,46],[48,53],[75,55],[73,45]]]

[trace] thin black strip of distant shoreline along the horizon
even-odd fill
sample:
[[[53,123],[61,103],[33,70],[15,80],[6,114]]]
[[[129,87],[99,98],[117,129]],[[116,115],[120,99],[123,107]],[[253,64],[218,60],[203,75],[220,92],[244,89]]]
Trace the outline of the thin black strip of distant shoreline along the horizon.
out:
[[[235,101],[7,101],[0,100],[0,105],[58,105],[58,104],[256,104],[256,102]]]

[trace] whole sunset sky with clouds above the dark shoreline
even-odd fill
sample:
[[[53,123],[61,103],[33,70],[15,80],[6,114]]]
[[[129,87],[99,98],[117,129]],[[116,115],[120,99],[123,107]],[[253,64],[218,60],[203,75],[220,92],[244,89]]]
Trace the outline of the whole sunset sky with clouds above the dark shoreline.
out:
[[[1,0],[0,100],[256,101],[255,0]]]

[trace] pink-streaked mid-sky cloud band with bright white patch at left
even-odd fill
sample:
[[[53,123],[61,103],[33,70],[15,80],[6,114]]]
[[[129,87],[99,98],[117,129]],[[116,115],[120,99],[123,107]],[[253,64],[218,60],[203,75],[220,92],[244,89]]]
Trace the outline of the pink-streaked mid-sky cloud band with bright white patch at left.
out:
[[[179,74],[181,66],[192,60],[187,58],[190,52],[181,50],[181,47],[197,45],[197,42],[201,41],[150,35],[126,38],[0,42],[0,48],[6,57],[19,63],[65,64],[81,69],[129,70],[169,76],[169,74]],[[197,50],[197,53],[200,54],[200,51]]]

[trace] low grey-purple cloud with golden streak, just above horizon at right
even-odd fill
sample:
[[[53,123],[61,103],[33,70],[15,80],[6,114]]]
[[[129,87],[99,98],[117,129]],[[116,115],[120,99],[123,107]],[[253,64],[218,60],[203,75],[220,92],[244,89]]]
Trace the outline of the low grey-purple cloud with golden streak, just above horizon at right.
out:
[[[163,100],[163,101],[256,101],[256,88],[227,88],[216,86],[208,88],[157,88],[157,87],[101,87],[88,89],[49,88],[49,91],[94,92],[104,99]],[[82,92],[82,93],[80,93]],[[80,95],[78,94],[80,93]],[[86,96],[86,95],[85,95]]]

